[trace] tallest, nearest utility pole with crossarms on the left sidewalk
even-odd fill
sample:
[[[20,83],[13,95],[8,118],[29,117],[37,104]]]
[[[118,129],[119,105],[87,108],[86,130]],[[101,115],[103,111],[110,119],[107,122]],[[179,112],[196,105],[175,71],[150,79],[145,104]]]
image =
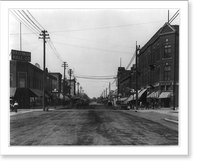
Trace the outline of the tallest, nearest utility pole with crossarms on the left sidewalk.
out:
[[[39,39],[43,39],[43,111],[45,111],[45,80],[46,80],[46,74],[45,74],[45,43],[46,39],[50,39],[49,34],[46,30],[43,30],[40,34]]]

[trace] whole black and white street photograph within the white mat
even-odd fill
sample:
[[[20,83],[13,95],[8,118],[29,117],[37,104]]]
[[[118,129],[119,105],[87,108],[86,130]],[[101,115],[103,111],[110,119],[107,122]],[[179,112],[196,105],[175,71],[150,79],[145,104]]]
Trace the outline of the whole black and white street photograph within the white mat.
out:
[[[9,148],[180,147],[184,10],[35,6],[7,8]]]

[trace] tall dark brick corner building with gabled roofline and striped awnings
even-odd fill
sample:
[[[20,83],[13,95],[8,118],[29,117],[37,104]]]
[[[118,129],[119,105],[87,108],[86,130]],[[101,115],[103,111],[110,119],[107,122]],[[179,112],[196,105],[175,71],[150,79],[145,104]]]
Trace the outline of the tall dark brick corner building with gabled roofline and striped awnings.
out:
[[[140,49],[138,87],[160,107],[178,107],[179,26],[165,23]],[[175,96],[175,99],[174,99]]]

